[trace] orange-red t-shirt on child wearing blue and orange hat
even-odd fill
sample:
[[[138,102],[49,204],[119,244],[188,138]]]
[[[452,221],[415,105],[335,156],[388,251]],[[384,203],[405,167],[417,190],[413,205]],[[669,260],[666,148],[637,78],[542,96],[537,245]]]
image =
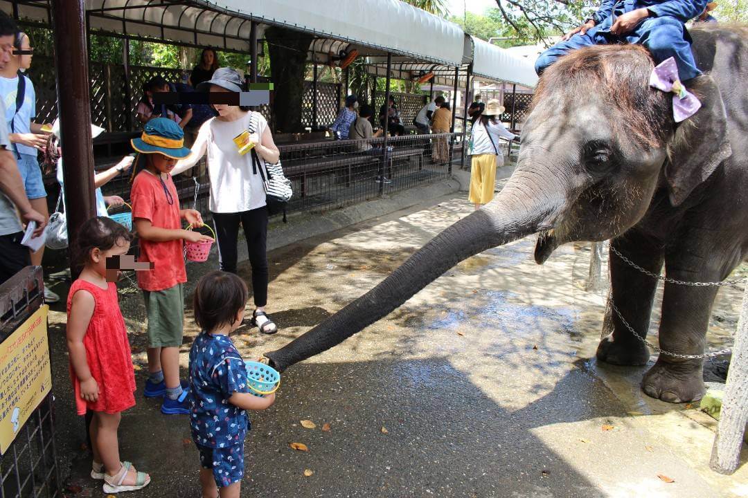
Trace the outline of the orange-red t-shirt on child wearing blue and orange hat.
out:
[[[171,196],[166,195],[164,186]],[[171,175],[167,175],[162,183],[159,177],[144,169],[132,182],[130,199],[133,220],[150,220],[153,226],[159,228],[182,228],[180,199]],[[181,239],[166,242],[140,239],[138,261],[153,262],[153,270],[135,272],[138,275],[138,285],[143,290],[166,290],[187,281]]]

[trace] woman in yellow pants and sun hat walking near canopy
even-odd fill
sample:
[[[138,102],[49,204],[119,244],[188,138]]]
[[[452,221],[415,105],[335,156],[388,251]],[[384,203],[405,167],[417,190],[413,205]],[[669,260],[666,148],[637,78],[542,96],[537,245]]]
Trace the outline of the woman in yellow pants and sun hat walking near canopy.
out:
[[[507,130],[498,119],[504,112],[499,101],[491,99],[482,113],[473,113],[473,129],[470,131],[470,202],[476,209],[494,198],[497,164],[504,164],[499,149],[499,138],[515,140],[517,135]]]

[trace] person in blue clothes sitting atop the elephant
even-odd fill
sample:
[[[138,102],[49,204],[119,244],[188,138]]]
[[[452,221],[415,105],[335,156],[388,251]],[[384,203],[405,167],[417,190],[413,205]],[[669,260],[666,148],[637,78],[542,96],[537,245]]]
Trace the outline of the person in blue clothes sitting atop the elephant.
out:
[[[684,83],[701,74],[691,54],[685,22],[701,14],[707,0],[604,0],[583,25],[543,52],[535,63],[538,75],[558,57],[574,49],[608,43],[638,43],[654,63],[675,58]]]

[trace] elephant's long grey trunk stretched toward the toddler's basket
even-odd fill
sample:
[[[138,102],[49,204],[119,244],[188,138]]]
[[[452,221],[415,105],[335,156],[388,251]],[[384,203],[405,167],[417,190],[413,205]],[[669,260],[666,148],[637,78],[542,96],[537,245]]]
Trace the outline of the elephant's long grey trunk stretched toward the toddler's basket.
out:
[[[549,228],[544,225],[553,210],[542,205],[545,196],[530,197],[517,183],[510,180],[491,204],[442,231],[364,296],[283,348],[265,353],[270,364],[283,371],[330,349],[389,314],[460,261]]]

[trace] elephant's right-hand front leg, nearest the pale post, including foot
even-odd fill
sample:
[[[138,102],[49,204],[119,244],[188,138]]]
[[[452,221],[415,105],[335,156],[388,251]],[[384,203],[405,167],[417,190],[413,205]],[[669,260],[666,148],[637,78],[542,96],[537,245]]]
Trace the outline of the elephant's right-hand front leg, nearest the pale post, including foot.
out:
[[[696,272],[669,271],[668,276],[684,281],[720,281],[722,278],[720,272],[704,268]],[[681,355],[704,352],[711,305],[717,290],[717,287],[665,284],[660,320],[663,352],[642,380],[642,389],[649,396],[671,403],[696,401],[704,396],[704,361],[678,358],[665,352]]]

